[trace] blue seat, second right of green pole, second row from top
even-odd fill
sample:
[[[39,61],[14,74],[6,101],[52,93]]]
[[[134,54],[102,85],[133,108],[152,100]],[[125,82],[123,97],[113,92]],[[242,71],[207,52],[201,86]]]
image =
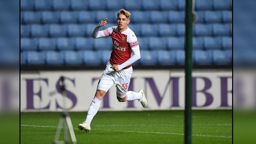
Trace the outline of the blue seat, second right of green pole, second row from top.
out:
[[[221,23],[222,14],[219,11],[205,11],[204,20],[206,23]]]

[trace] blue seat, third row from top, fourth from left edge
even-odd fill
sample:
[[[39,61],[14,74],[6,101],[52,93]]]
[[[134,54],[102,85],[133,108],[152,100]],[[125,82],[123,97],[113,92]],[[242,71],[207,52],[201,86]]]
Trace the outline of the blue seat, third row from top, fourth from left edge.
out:
[[[67,32],[69,36],[84,36],[85,25],[69,24]]]

